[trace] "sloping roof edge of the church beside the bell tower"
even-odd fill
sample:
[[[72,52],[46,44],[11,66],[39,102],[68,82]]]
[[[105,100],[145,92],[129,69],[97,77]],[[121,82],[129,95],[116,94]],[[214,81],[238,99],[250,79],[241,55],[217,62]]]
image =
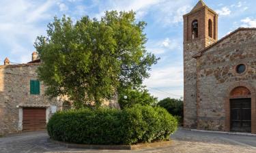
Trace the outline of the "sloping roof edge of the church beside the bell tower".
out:
[[[216,41],[214,44],[204,48],[203,50],[199,51],[197,54],[193,55],[193,58],[197,58],[197,57],[201,57],[203,55],[203,52],[206,52],[207,50],[209,50],[210,48],[216,46],[216,44],[219,44],[221,43],[221,41],[227,39],[228,37],[230,37],[231,35],[237,33],[238,31],[252,31],[252,30],[255,30],[256,31],[256,28],[238,28],[236,29],[235,31],[229,33],[228,35],[226,35],[225,37],[219,39],[218,41]]]

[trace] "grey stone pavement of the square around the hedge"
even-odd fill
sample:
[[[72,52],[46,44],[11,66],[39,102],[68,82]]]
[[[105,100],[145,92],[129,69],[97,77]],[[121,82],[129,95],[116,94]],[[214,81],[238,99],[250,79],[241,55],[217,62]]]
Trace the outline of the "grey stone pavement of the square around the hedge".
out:
[[[147,148],[143,150],[81,150],[64,148],[47,141],[46,132],[22,133],[0,138],[2,153],[96,153],[96,152],[255,152],[256,136],[229,135],[223,133],[203,133],[199,131],[178,130],[171,135],[172,145],[166,148]]]

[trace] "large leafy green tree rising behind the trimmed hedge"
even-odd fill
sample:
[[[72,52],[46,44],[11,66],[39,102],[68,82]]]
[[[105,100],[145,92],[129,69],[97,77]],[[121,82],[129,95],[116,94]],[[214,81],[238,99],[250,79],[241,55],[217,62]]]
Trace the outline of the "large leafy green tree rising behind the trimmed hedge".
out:
[[[54,18],[35,41],[46,95],[68,95],[76,107],[100,105],[118,88],[140,86],[158,58],[145,50],[145,22],[134,12],[106,12],[100,19]]]

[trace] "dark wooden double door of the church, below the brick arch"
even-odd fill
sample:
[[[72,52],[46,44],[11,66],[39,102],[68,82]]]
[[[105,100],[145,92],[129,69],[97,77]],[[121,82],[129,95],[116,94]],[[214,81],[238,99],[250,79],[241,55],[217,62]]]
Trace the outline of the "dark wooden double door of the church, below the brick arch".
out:
[[[251,133],[251,99],[230,100],[231,131]]]

